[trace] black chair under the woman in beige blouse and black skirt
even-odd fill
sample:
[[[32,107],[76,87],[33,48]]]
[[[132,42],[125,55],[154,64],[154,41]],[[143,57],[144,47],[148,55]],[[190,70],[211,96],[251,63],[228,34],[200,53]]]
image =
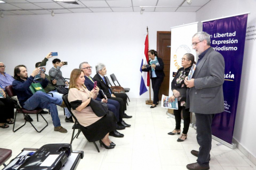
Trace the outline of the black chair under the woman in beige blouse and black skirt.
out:
[[[63,99],[64,103],[66,104],[66,107],[67,107],[68,111],[70,111],[72,117],[75,119],[75,124],[72,126],[73,133],[72,133],[71,142],[70,142],[70,144],[72,144],[72,142],[73,142],[73,140],[75,139],[75,137],[77,138],[77,137],[79,136],[79,134],[81,133],[81,131],[83,131],[83,129],[84,129],[85,127],[82,126],[81,124],[79,124],[79,122],[77,121],[75,115],[72,113],[72,111],[71,111],[71,105],[70,105],[70,102],[68,102],[68,100],[67,100],[67,96],[68,96],[68,93],[62,95],[62,99]],[[76,135],[74,136],[76,129],[78,129],[78,132],[77,132]],[[86,136],[85,136],[85,138],[86,138]],[[87,139],[87,138],[86,138],[86,139]],[[97,151],[100,152],[99,147],[97,146],[97,144],[95,143],[95,141],[93,141],[93,144],[95,145]]]

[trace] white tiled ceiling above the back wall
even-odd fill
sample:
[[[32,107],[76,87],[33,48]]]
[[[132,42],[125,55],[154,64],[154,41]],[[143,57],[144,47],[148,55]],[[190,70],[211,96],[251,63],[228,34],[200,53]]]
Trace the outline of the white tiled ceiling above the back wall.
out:
[[[211,0],[77,0],[78,5],[55,0],[2,0],[4,15],[42,15],[100,12],[196,12]],[[75,0],[74,0],[75,1]]]

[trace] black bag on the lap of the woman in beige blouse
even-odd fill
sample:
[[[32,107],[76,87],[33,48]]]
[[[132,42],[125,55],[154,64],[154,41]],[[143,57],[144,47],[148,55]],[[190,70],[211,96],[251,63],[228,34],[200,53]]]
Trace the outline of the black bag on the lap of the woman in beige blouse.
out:
[[[92,108],[93,112],[98,117],[106,115],[109,110],[106,103],[94,100],[93,98],[91,98],[91,101],[89,104],[90,104],[90,107]]]

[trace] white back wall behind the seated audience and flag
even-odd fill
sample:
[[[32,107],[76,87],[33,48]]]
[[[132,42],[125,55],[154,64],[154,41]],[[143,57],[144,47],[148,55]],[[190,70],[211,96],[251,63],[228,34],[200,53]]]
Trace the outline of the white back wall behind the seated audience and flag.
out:
[[[4,16],[0,18],[0,61],[11,75],[19,64],[26,65],[31,73],[48,52],[58,52],[62,61],[68,61],[61,69],[66,78],[83,61],[91,64],[94,76],[96,63],[102,62],[107,76],[115,73],[123,87],[131,88],[130,98],[148,98],[148,92],[139,95],[146,27],[150,48],[156,49],[156,31],[170,31],[170,27],[194,21],[195,13]],[[47,70],[52,67],[51,60]]]

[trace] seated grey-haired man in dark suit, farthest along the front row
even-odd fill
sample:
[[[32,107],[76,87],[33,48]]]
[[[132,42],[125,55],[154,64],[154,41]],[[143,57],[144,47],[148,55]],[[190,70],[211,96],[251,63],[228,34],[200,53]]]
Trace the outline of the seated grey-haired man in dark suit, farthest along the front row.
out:
[[[94,80],[97,81],[97,86],[103,90],[103,92],[106,94],[106,97],[111,100],[116,100],[120,104],[120,112],[123,114],[120,116],[120,119],[122,118],[132,118],[132,116],[127,115],[124,113],[126,110],[126,101],[127,101],[127,95],[125,93],[115,93],[113,94],[112,90],[110,89],[109,85],[107,85],[107,80],[104,77],[106,75],[106,67],[102,63],[99,63],[96,65],[96,75],[93,77]],[[124,121],[118,122],[117,124],[124,125],[127,127],[127,124]],[[129,125],[131,126],[131,125]]]

